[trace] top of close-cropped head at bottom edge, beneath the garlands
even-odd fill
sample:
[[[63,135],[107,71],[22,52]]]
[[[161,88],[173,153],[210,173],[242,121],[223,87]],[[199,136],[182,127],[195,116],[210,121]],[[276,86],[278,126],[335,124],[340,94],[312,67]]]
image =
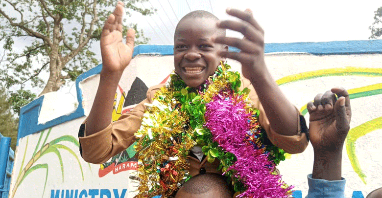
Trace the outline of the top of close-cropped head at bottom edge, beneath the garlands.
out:
[[[233,198],[235,191],[230,181],[228,177],[216,173],[200,174],[191,177],[180,187],[178,192],[184,191],[198,195],[215,190],[219,192],[219,198]]]

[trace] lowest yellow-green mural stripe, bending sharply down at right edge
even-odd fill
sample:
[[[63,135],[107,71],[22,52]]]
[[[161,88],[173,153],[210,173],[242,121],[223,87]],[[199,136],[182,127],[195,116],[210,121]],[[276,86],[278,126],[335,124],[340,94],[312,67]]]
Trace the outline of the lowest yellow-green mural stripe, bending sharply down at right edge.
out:
[[[364,184],[366,184],[366,176],[363,174],[358,162],[356,154],[356,140],[359,137],[378,129],[382,129],[382,117],[375,118],[351,129],[346,137],[346,151],[349,156],[350,163],[352,164],[353,170],[358,174]]]

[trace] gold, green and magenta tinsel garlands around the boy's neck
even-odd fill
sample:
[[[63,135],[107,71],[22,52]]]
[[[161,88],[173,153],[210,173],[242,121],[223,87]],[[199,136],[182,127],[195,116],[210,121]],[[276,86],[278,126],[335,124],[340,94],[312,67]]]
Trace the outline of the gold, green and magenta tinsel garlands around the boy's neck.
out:
[[[194,145],[207,160],[220,160],[219,169],[233,180],[238,197],[287,198],[287,186],[274,173],[285,159],[259,126],[259,110],[252,108],[248,88],[239,90],[240,75],[221,63],[214,76],[190,88],[176,74],[157,91],[143,115],[139,141],[137,198],[171,196],[191,176],[187,158]]]

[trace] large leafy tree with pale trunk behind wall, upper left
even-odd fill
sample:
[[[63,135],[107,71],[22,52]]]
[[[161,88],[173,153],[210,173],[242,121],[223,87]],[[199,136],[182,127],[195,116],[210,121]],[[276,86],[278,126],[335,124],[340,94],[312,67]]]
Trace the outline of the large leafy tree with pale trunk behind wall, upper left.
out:
[[[142,9],[137,3],[147,0],[128,0],[125,12],[149,15],[154,10]],[[30,83],[43,88],[39,94],[56,91],[68,80],[98,65],[91,44],[100,39],[103,24],[116,0],[0,0],[0,42],[4,54],[0,63],[0,81],[6,88]],[[124,27],[137,31],[137,24]],[[18,51],[15,39],[27,41]],[[136,44],[147,43],[143,32],[137,31]],[[48,82],[41,74],[49,72]],[[18,94],[18,92],[13,92]]]

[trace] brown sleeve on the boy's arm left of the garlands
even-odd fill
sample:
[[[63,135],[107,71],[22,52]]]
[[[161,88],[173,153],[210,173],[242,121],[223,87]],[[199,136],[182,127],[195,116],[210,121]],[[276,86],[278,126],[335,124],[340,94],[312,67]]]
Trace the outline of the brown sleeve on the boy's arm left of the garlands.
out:
[[[162,86],[149,88],[146,99],[99,132],[86,135],[87,119],[85,119],[78,132],[82,158],[90,163],[101,164],[132,145],[136,140],[134,133],[141,127],[141,118],[146,110],[144,103],[150,103],[151,98],[160,87]]]

